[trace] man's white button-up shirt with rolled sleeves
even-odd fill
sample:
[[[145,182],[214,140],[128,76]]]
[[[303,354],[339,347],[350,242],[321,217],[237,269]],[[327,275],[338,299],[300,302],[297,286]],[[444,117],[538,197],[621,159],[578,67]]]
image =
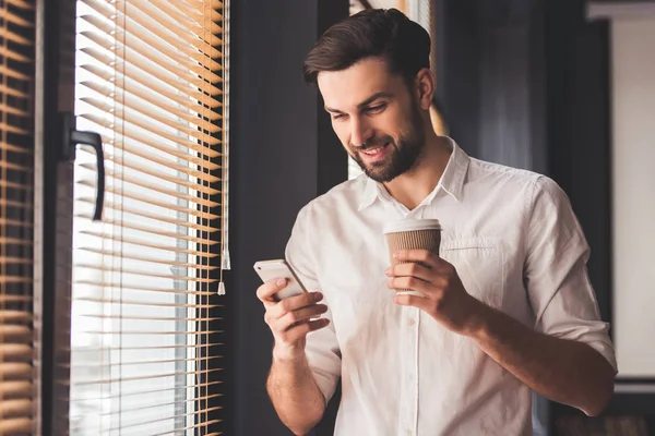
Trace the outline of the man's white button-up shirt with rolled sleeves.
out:
[[[286,257],[330,307],[307,338],[329,400],[342,377],[337,436],[532,435],[531,390],[386,288],[382,228],[437,218],[440,255],[468,293],[534,329],[585,342],[616,370],[586,270],[588,245],[564,192],[550,179],[469,158],[452,142],[434,191],[414,210],[366,175],[298,214]]]

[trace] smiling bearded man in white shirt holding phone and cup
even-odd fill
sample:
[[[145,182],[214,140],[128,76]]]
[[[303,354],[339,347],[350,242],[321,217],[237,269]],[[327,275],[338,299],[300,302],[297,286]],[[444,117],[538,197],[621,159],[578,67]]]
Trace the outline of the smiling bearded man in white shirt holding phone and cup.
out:
[[[295,434],[320,421],[340,377],[335,434],[347,436],[529,435],[532,390],[588,415],[612,393],[612,344],[565,194],[434,133],[429,52],[418,24],[370,10],[306,59],[366,174],[298,215],[286,256],[320,292],[278,302],[284,280],[258,290],[275,342],[269,393]],[[425,266],[390,267],[382,228],[402,218],[439,219],[440,256],[398,252]]]

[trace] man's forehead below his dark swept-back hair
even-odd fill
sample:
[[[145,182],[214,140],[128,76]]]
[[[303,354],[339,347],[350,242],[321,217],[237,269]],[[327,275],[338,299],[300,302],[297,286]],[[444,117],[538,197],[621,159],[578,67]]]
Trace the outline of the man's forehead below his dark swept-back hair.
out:
[[[404,88],[400,74],[391,74],[386,62],[370,58],[342,71],[319,73],[318,84],[326,107],[352,110],[378,93],[397,95]]]

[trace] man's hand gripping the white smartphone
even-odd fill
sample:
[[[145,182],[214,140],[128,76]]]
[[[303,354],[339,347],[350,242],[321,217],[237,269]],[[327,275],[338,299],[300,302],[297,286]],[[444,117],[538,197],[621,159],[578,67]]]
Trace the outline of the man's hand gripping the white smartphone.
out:
[[[303,292],[300,295],[278,300],[275,295],[287,287],[285,278],[265,282],[257,290],[257,296],[264,304],[264,320],[275,338],[273,359],[295,360],[305,355],[307,334],[330,324],[327,318],[312,319],[327,312],[320,292]]]

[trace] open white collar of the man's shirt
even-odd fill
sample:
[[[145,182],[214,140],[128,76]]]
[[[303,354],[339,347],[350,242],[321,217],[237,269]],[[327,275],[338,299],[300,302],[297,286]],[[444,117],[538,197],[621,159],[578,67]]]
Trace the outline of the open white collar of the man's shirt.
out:
[[[452,153],[445,170],[441,175],[441,180],[437,184],[437,187],[424,203],[430,203],[434,198],[439,189],[443,189],[449,195],[451,195],[456,202],[462,198],[462,190],[464,187],[464,181],[466,179],[466,171],[468,170],[468,162],[471,158],[452,138],[443,136],[451,145]],[[359,202],[359,210],[366,209],[372,205],[376,199],[390,201],[391,195],[382,183],[378,183],[374,180],[366,178],[364,190],[361,193],[361,201]]]

